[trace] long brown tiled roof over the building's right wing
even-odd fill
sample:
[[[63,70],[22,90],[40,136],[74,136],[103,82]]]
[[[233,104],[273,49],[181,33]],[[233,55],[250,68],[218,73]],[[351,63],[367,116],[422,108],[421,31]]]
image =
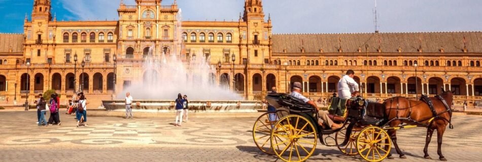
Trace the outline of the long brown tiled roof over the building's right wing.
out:
[[[482,31],[473,32],[412,32],[412,33],[327,33],[327,34],[273,34],[273,53],[482,53]]]

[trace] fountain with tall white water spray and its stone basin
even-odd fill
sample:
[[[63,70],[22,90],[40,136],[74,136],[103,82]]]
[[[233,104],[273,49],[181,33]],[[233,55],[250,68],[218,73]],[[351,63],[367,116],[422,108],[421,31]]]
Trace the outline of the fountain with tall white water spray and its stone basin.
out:
[[[144,56],[143,78],[137,79],[130,87],[118,93],[117,101],[103,101],[108,110],[122,109],[125,94],[129,92],[136,103],[134,109],[145,111],[169,111],[174,108],[178,94],[187,95],[189,107],[205,111],[256,111],[260,106],[256,101],[243,101],[243,98],[224,86],[218,86],[216,68],[209,64],[202,49],[192,57],[182,57],[181,49],[181,10],[175,26],[174,52],[153,53]]]

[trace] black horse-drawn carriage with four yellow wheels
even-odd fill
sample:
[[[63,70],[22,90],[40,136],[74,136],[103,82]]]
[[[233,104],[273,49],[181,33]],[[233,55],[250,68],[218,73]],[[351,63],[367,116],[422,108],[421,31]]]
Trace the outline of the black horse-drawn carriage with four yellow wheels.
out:
[[[323,136],[332,134],[335,134],[332,146],[337,146],[343,154],[359,154],[367,161],[381,161],[391,155],[388,130],[419,126],[412,123],[390,126],[393,119],[387,116],[385,105],[361,97],[347,102],[346,116],[329,115],[335,123],[343,124],[336,130],[319,122],[317,109],[302,100],[287,94],[269,94],[266,100],[277,111],[264,113],[257,119],[253,139],[261,151],[284,161],[305,161],[314,154],[318,139],[328,145]]]

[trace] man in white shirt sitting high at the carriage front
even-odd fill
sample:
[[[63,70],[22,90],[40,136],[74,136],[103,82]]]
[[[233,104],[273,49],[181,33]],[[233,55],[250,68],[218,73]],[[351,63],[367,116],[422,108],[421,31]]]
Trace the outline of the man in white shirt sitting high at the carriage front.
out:
[[[347,101],[352,97],[358,96],[357,93],[359,94],[358,83],[353,79],[354,76],[355,72],[348,70],[347,74],[338,82],[338,97],[340,98],[341,113],[345,113]]]

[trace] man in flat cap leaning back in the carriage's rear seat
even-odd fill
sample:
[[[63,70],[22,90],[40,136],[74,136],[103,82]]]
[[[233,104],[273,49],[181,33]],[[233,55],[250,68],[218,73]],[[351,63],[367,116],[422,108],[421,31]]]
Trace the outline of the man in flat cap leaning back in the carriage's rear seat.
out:
[[[300,100],[303,100],[303,102],[305,102],[307,104],[310,104],[313,107],[315,107],[318,110],[318,117],[319,117],[318,123],[320,124],[320,126],[324,127],[323,124],[325,124],[325,125],[329,126],[332,130],[336,130],[336,129],[339,129],[339,128],[342,127],[342,125],[333,123],[333,120],[331,120],[330,117],[328,117],[328,111],[320,110],[320,108],[318,108],[318,106],[315,104],[315,102],[313,102],[313,101],[307,99],[306,97],[304,97],[303,95],[301,95],[300,94],[301,89],[302,89],[301,83],[299,83],[299,82],[293,83],[290,96],[293,96],[293,97],[296,97]]]

